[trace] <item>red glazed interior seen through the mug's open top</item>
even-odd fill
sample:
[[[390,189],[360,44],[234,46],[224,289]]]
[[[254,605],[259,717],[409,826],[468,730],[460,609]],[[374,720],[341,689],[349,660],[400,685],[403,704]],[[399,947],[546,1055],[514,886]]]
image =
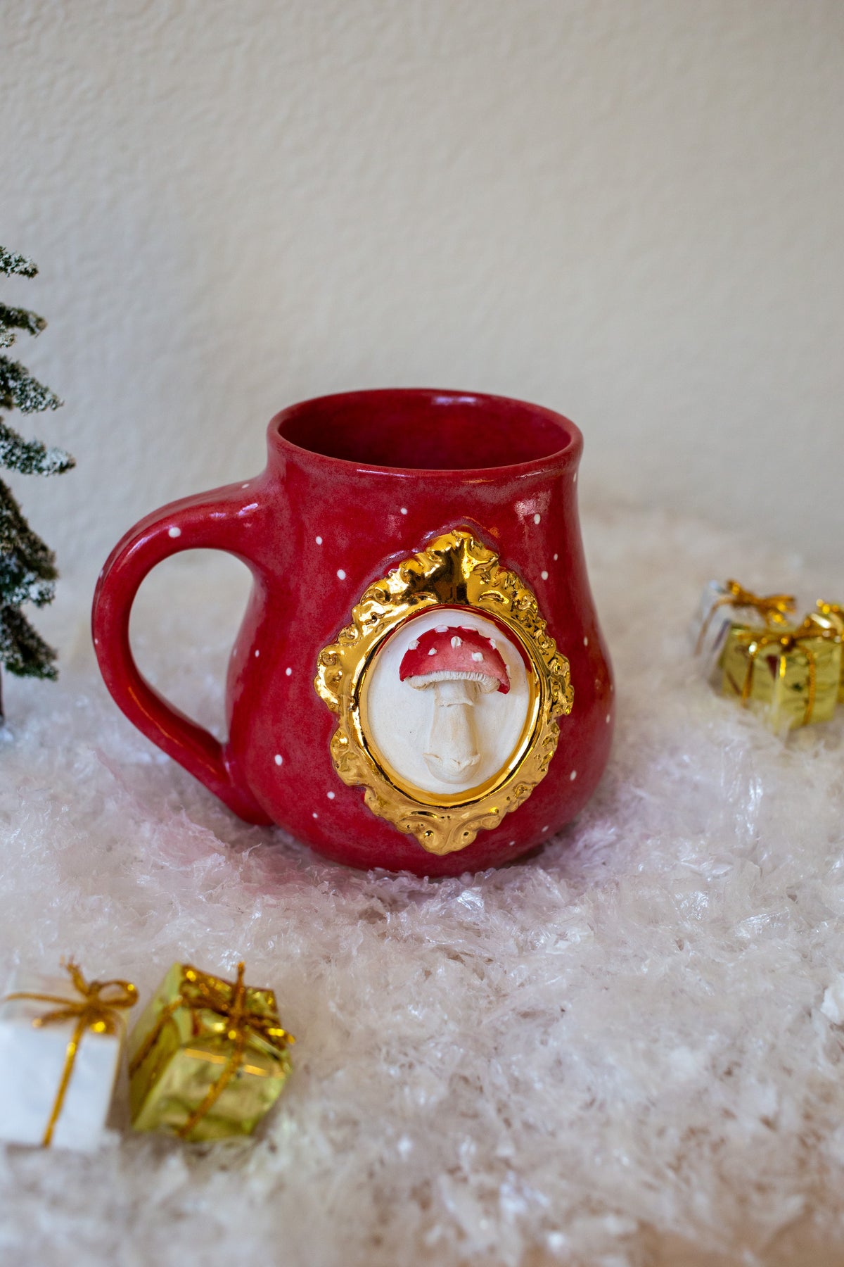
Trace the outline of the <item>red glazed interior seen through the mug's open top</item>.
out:
[[[535,462],[580,438],[568,419],[523,400],[418,389],[305,400],[280,414],[277,431],[313,454],[405,470]]]

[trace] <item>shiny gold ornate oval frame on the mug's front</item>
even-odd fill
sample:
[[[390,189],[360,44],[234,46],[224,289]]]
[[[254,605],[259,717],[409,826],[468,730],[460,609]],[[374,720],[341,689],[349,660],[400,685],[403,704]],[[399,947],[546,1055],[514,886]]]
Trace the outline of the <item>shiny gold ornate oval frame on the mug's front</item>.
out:
[[[510,761],[477,788],[453,796],[414,792],[385,769],[367,739],[366,680],[378,650],[409,616],[431,607],[469,607],[514,635],[529,661],[530,706]],[[366,788],[373,813],[413,834],[431,854],[471,845],[478,831],[496,827],[505,813],[528,799],[548,773],[557,750],[557,718],[572,711],[568,660],[557,650],[539,614],[534,593],[499,556],[464,528],[433,540],[382,580],[366,589],[352,608],[352,623],[318,659],[314,687],[339,725],[332,758],[344,783]]]

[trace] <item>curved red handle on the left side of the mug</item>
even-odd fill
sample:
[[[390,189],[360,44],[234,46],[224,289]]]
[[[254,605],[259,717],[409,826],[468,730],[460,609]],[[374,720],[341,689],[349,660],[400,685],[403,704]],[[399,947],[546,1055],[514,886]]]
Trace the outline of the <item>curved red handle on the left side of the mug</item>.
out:
[[[129,616],[140,583],[156,564],[181,550],[225,550],[259,580],[251,546],[259,536],[261,518],[261,499],[254,489],[244,492],[242,484],[153,511],[109,555],[94,593],[91,630],[105,684],[129,721],[240,818],[267,825],[272,820],[238,777],[223,744],[158,694],[138,669],[129,645]]]

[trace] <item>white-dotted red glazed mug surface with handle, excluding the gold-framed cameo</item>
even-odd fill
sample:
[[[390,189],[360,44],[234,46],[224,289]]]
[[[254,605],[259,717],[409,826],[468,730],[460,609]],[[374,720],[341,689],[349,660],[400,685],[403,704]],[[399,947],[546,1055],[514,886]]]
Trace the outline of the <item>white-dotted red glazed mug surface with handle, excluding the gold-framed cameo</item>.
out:
[[[610,663],[577,518],[577,427],[502,397],[383,390],[292,405],[267,435],[263,474],[172,502],[111,552],[94,597],[94,642],[116,703],[237,815],[277,822],[353,867],[453,875],[547,840],[595,789],[612,732]],[[364,789],[337,775],[329,753],[337,718],[314,675],[366,587],[459,527],[537,594],[568,656],[574,707],[528,801],[467,849],[438,858],[376,817]],[[196,547],[229,551],[254,578],[229,664],[224,745],[146,682],[129,646],[143,578]]]

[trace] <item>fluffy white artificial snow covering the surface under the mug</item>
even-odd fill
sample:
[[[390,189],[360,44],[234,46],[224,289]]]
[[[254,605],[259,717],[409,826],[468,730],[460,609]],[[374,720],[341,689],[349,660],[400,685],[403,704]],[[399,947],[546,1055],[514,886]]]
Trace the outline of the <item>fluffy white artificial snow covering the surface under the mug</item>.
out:
[[[62,583],[59,683],[5,682],[4,979],[72,954],[147,998],[243,958],[297,1043],[252,1140],[133,1135],[121,1083],[95,1154],[0,1148],[4,1267],[844,1262],[844,708],[783,741],[687,641],[710,576],[804,607],[840,576],[657,514],[585,536],[607,773],[533,856],[458,879],[239,822],[118,712]],[[159,569],[134,627],[205,725],[243,597],[208,568]]]

